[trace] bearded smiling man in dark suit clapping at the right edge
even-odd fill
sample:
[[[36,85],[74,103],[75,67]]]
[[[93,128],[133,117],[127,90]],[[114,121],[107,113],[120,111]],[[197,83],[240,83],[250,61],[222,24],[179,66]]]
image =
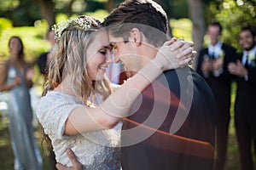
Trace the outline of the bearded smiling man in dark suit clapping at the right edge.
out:
[[[239,43],[243,51],[237,61],[228,66],[236,75],[235,126],[239,144],[241,169],[253,170],[253,150],[256,149],[256,38],[252,26],[241,28]],[[256,152],[254,152],[256,157]]]

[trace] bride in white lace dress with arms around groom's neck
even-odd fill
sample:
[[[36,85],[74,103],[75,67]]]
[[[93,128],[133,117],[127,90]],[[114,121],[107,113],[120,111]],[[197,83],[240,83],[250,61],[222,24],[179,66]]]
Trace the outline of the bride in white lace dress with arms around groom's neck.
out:
[[[84,169],[120,169],[120,126],[116,125],[129,114],[143,88],[163,71],[174,69],[172,58],[180,53],[178,49],[184,42],[166,42],[162,48],[168,50],[162,51],[168,58],[157,54],[113,93],[105,77],[112,63],[112,47],[108,32],[101,29],[99,22],[83,15],[59,23],[54,30],[57,48],[37,116],[51,141],[56,161],[72,166],[65,152],[71,148]],[[178,61],[187,65],[191,59]]]

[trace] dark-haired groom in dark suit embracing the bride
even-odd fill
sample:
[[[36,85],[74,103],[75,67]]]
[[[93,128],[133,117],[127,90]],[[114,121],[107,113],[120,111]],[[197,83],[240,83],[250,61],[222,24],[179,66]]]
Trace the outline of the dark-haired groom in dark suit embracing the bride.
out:
[[[122,62],[132,76],[154,59],[156,51],[150,47],[166,41],[168,20],[151,0],[126,0],[103,26],[108,26],[114,61]],[[164,72],[144,89],[137,104],[123,122],[123,170],[213,169],[216,105],[207,83],[195,71],[187,66]],[[79,169],[70,151],[67,155]]]

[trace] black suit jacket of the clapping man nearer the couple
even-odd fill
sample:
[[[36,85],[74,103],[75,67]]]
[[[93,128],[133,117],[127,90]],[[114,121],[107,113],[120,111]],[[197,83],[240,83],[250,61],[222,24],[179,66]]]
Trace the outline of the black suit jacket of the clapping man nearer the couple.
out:
[[[216,99],[218,109],[220,111],[229,111],[230,110],[230,82],[234,78],[230,75],[227,65],[231,61],[236,61],[236,49],[230,47],[229,45],[223,44],[222,50],[224,51],[224,66],[223,73],[219,77],[215,77],[212,74],[209,74],[209,77],[204,77],[201,71],[201,65],[205,56],[209,56],[208,48],[203,48],[198,57],[198,63],[196,71],[205,78],[208,85],[212,89],[212,94]]]

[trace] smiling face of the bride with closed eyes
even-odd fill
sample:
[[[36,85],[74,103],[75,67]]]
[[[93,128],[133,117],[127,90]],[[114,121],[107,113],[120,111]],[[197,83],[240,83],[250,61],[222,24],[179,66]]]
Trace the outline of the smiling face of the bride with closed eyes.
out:
[[[91,80],[102,80],[108,66],[113,62],[108,33],[99,30],[94,33],[94,39],[86,51],[88,64],[86,68]]]

